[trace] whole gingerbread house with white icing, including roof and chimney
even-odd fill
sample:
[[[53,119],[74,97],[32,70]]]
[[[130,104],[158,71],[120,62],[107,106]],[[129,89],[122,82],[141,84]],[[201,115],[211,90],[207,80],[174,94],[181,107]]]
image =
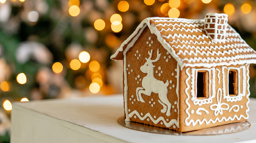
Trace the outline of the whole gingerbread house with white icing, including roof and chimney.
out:
[[[246,121],[256,52],[227,21],[144,19],[111,56],[123,60],[125,121],[180,132]]]

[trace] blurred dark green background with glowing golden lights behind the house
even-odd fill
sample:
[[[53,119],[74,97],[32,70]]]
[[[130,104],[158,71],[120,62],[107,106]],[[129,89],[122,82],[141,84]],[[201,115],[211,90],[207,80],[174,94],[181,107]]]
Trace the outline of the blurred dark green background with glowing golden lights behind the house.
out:
[[[109,57],[146,17],[227,13],[256,49],[255,7],[255,0],[0,0],[0,142],[9,142],[13,101],[123,93],[123,62]]]

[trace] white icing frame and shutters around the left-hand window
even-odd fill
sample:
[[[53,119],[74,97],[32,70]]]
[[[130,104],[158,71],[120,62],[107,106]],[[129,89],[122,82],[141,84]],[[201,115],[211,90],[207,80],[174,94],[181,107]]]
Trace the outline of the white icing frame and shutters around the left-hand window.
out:
[[[198,72],[206,72],[205,76],[208,77],[206,83],[208,82],[208,85],[206,88],[208,88],[206,97],[200,97],[197,98],[197,74]],[[215,68],[212,67],[210,69],[195,69],[191,68],[191,95],[192,98],[190,98],[193,101],[194,105],[201,106],[202,104],[210,104],[213,102],[213,98],[215,98]]]

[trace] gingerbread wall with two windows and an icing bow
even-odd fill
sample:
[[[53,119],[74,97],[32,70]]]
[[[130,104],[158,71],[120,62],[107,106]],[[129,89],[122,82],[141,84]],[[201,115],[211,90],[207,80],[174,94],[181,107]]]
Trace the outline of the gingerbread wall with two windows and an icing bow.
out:
[[[197,98],[197,72],[208,72],[208,98]],[[235,71],[235,94],[229,94],[229,71]],[[184,67],[180,73],[181,131],[198,130],[246,121],[249,103],[249,65],[217,66],[210,69]]]

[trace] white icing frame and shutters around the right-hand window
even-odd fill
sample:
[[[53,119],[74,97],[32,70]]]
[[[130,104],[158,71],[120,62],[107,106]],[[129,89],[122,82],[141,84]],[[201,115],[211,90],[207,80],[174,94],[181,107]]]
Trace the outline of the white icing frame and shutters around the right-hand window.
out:
[[[221,67],[222,70],[222,91],[223,91],[223,99],[226,99],[226,101],[230,102],[236,102],[242,100],[243,96],[246,96],[246,67],[240,66],[240,67]],[[235,85],[234,94],[229,94],[229,78],[230,78],[230,71],[235,71],[237,74],[235,74],[237,81],[234,81],[235,84],[237,82],[237,85]],[[241,74],[242,72],[242,74]],[[242,75],[242,76],[241,76]],[[227,79],[227,83],[225,81]],[[235,79],[235,80],[236,80]],[[241,92],[241,82],[242,82],[242,92]],[[227,86],[226,86],[227,85]],[[235,89],[237,88],[237,89]]]

